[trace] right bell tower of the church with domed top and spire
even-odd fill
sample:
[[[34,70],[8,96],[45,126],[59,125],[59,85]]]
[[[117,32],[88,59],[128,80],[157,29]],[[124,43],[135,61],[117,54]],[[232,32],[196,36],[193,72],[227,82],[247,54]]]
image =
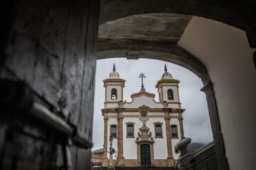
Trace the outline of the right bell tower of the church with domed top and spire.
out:
[[[161,80],[157,81],[156,88],[159,94],[159,101],[166,102],[171,108],[181,108],[178,94],[178,84],[180,81],[173,79],[168,72],[166,64],[164,65],[164,74]]]

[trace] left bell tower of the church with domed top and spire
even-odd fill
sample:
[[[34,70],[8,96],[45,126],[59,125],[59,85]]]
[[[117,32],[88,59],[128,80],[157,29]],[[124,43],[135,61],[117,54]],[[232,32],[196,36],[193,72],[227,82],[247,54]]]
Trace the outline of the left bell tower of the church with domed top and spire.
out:
[[[119,78],[115,64],[113,64],[113,72],[110,73],[110,77],[103,80],[103,82],[105,87],[105,108],[117,108],[119,101],[123,101],[125,80]]]

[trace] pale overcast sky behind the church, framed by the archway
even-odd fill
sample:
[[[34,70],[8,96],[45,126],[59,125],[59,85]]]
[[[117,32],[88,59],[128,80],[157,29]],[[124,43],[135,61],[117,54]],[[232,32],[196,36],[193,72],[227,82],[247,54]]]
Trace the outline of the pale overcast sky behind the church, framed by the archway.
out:
[[[176,64],[159,60],[114,58],[97,60],[92,137],[94,146],[92,150],[103,147],[104,122],[101,109],[104,108],[105,88],[102,81],[109,77],[113,63],[116,65],[116,72],[119,73],[119,77],[126,80],[124,101],[132,101],[131,94],[140,91],[141,79],[139,79],[139,74],[142,72],[146,76],[144,79],[146,91],[157,94],[156,81],[161,79],[161,75],[164,73],[164,64],[166,64],[168,72],[172,74],[173,78],[181,81],[179,84],[181,108],[186,109],[183,113],[185,136],[191,137],[192,142],[208,143],[213,141],[206,95],[200,91],[203,84],[196,74]],[[158,95],[156,95],[155,100],[159,101]]]

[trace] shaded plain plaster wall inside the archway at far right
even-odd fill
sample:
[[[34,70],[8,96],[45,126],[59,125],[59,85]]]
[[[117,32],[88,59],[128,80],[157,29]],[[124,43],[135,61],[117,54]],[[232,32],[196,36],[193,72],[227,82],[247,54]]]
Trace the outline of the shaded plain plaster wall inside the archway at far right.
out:
[[[230,169],[255,169],[256,70],[245,32],[193,17],[178,44],[206,65],[213,81]]]

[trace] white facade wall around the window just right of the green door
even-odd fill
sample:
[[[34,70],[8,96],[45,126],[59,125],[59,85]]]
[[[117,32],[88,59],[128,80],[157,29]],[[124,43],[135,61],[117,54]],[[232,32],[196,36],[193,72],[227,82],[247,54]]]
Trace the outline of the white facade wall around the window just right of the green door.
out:
[[[162,123],[163,138],[155,138],[154,123]],[[149,118],[146,126],[150,129],[152,137],[154,137],[154,159],[166,159],[167,154],[167,142],[166,142],[166,125],[164,118]]]

